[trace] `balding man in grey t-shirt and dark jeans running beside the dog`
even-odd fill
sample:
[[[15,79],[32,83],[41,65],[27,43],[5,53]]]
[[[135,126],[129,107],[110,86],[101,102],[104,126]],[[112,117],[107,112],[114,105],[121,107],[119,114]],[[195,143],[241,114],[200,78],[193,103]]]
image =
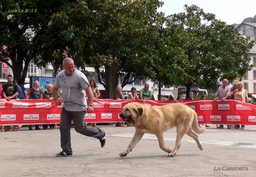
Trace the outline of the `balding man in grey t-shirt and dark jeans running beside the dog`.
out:
[[[56,154],[56,156],[65,157],[73,155],[70,138],[72,120],[76,132],[99,139],[103,148],[106,143],[106,132],[96,127],[86,127],[84,125],[85,110],[87,109],[88,112],[93,112],[93,91],[90,88],[90,84],[85,75],[79,70],[76,70],[72,58],[65,58],[63,60],[63,67],[64,70],[56,76],[52,90],[55,104],[61,105],[61,102],[58,100],[59,88],[62,89],[63,101],[68,102],[64,103],[61,111],[60,133],[62,151]],[[88,104],[84,90],[87,94]]]

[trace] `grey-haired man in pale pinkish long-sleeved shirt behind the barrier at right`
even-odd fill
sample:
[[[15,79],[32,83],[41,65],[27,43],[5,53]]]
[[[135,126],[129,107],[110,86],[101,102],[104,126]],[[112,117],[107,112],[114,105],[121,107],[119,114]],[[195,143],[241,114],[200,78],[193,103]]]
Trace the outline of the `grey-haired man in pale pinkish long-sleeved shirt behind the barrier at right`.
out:
[[[225,78],[222,81],[222,86],[218,87],[218,90],[215,93],[214,101],[216,101],[217,99],[224,101],[225,99],[228,99],[230,97],[230,87],[228,87],[227,84],[228,80]],[[229,128],[228,125],[227,127]],[[224,126],[220,125],[218,128],[224,128]]]

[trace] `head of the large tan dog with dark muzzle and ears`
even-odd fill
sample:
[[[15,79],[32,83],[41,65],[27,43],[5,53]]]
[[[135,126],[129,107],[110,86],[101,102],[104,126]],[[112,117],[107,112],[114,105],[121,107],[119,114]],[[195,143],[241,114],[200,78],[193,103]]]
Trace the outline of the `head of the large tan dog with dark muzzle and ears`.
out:
[[[131,102],[123,107],[119,116],[130,126],[139,126],[143,115],[142,104]]]

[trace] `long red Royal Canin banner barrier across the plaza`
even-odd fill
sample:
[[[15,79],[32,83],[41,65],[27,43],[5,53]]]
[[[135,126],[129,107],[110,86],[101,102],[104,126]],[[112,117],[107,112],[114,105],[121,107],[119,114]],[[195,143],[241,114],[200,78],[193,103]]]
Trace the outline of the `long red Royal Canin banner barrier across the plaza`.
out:
[[[62,99],[61,99],[62,101]],[[94,112],[86,113],[85,122],[122,122],[119,113],[122,107],[134,100],[96,99]],[[187,104],[198,114],[199,124],[256,125],[256,106],[234,100],[225,101],[156,101],[141,102],[148,105],[173,103]],[[57,124],[61,119],[61,107],[48,100],[0,99],[0,125]]]

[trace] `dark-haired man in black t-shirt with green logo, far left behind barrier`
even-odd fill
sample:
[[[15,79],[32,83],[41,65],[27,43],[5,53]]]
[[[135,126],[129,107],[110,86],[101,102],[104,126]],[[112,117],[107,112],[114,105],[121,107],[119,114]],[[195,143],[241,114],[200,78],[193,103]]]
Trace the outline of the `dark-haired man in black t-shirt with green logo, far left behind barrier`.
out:
[[[17,99],[17,96],[19,95],[19,89],[16,84],[14,84],[12,75],[7,75],[7,84],[3,85],[3,98],[7,101],[10,101],[11,99]],[[13,126],[12,131],[17,131],[18,126]],[[5,131],[10,131],[11,126],[8,126]]]

